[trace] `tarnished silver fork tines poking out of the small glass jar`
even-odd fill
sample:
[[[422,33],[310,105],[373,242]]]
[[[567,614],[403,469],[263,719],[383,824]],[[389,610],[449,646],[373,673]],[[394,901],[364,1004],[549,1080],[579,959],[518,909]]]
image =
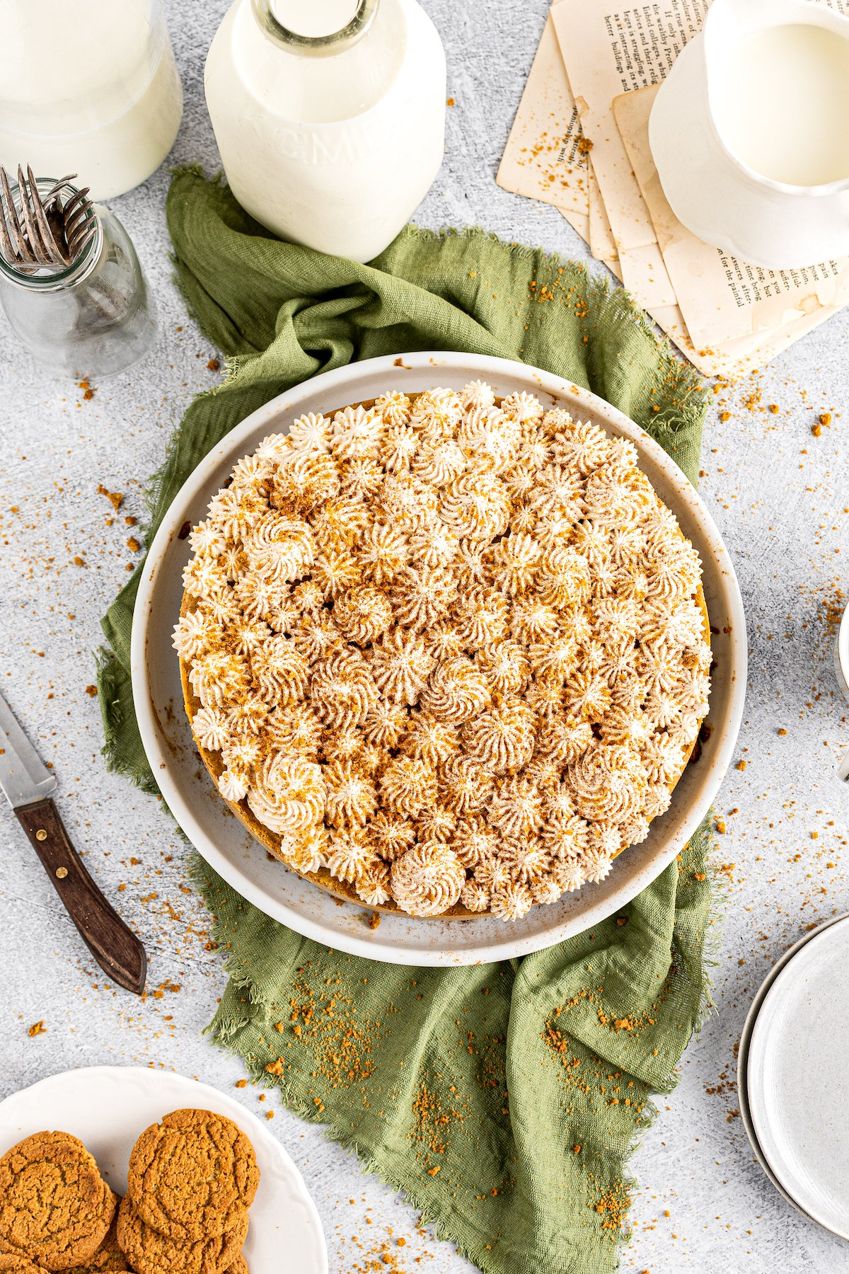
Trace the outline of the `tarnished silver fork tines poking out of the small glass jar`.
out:
[[[60,192],[74,180],[71,173],[42,196],[31,167],[24,177],[18,164],[18,197],[0,166],[0,251],[9,265],[24,274],[71,265],[95,233],[97,217],[89,217],[92,200],[87,186],[62,205]]]

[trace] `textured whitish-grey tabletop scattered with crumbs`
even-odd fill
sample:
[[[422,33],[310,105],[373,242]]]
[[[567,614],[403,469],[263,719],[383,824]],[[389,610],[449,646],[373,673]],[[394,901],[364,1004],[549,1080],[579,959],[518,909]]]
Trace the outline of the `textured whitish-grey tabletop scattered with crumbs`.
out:
[[[225,0],[169,0],[186,92],[172,161],[200,161],[207,169],[218,157],[202,61],[224,8]],[[417,220],[479,223],[583,256],[556,210],[494,183],[545,0],[425,0],[425,8],[447,47],[448,92],[457,104],[448,112],[443,169]],[[185,846],[154,800],[106,772],[98,706],[85,693],[99,615],[134,559],[123,515],[144,512],[143,484],[171,429],[191,395],[219,375],[206,368],[215,350],[171,283],[165,186],[160,171],[113,203],[159,306],[155,355],[84,401],[75,385],[50,381],[0,318],[0,688],[55,763],[59,805],[89,868],[144,936],[153,992],[140,1004],[103,985],[4,805],[0,1096],[70,1066],[141,1063],[197,1075],[262,1112],[271,1094],[260,1105],[256,1089],[233,1089],[238,1061],[201,1038],[224,975],[204,948],[206,919],[186,887]],[[734,1046],[766,970],[806,925],[845,910],[849,899],[849,794],[834,776],[849,729],[826,620],[827,599],[849,573],[848,336],[844,312],[761,377],[723,390],[705,431],[701,489],[736,561],[748,615],[751,682],[740,744],[747,766],[732,769],[718,801],[726,815],[719,861],[729,885],[714,971],[719,1013],[687,1050],[681,1083],[659,1101],[659,1119],[633,1161],[639,1190],[625,1269],[849,1269],[846,1247],[797,1215],[754,1162],[733,1084]],[[729,413],[724,422],[720,410]],[[813,437],[811,426],[825,410],[834,422]],[[111,526],[98,483],[125,493]],[[74,557],[85,566],[74,566]],[[31,1038],[27,1028],[38,1019],[46,1033]],[[335,1274],[363,1268],[389,1228],[407,1238],[396,1250],[401,1269],[468,1268],[451,1245],[416,1235],[416,1213],[361,1176],[356,1161],[318,1129],[279,1106],[271,1127],[314,1194]]]

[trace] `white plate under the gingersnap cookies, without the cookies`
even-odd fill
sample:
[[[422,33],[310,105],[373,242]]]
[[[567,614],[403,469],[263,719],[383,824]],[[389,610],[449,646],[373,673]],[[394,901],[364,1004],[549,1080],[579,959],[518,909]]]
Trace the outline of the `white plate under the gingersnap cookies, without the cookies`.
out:
[[[227,1115],[253,1143],[260,1187],[244,1242],[251,1274],[327,1274],[321,1220],[297,1167],[255,1115],[209,1084],[144,1066],[84,1066],[51,1075],[0,1102],[0,1154],[32,1133],[71,1133],[122,1195],[139,1134],[183,1106]]]

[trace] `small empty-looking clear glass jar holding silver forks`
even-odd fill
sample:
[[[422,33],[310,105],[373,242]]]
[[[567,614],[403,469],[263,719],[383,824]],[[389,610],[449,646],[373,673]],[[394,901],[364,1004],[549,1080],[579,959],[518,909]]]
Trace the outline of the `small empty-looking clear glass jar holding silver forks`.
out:
[[[121,372],[153,347],[155,318],[121,222],[71,178],[1,173],[0,304],[13,331],[55,372]]]

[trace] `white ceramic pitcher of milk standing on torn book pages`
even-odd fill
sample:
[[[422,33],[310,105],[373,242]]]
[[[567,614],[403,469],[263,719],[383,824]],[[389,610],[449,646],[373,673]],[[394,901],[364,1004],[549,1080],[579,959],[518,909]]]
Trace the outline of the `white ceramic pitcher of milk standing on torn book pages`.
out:
[[[789,71],[775,83],[762,78],[770,57]],[[849,255],[849,110],[835,103],[849,104],[849,18],[807,0],[714,0],[649,121],[652,155],[678,220],[768,269]],[[826,131],[792,138],[816,110]],[[771,147],[757,152],[773,116]]]

